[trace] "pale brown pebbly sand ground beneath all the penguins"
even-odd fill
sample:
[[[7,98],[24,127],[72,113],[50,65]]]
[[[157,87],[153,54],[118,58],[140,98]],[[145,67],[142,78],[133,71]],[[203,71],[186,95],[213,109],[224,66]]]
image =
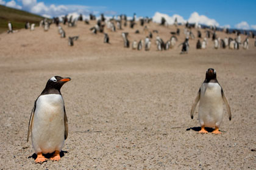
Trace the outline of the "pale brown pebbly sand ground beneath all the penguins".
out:
[[[130,42],[145,37],[140,25],[106,29],[111,44],[101,33],[91,34],[93,25],[63,26],[67,36],[79,35],[73,47],[55,25],[48,32],[36,27],[0,35],[0,169],[255,169],[254,39],[249,50],[216,50],[210,39],[207,49],[196,50],[196,38],[180,55],[183,26],[174,49],[157,51],[154,33],[146,52],[123,47],[123,31]],[[176,30],[148,27],[164,41]],[[216,69],[232,111],[229,121],[224,109],[221,135],[198,133],[198,107],[190,118],[209,67]],[[54,75],[72,78],[62,87],[69,134],[61,160],[40,165],[31,140],[26,142],[27,127],[35,99]]]

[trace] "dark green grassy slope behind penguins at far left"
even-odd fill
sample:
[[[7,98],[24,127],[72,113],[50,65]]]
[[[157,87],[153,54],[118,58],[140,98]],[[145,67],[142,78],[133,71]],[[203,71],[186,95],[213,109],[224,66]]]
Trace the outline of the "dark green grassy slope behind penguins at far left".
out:
[[[0,33],[8,30],[8,21],[12,22],[13,30],[17,30],[23,29],[27,21],[29,21],[30,24],[35,23],[39,25],[41,19],[43,19],[42,16],[0,5]]]

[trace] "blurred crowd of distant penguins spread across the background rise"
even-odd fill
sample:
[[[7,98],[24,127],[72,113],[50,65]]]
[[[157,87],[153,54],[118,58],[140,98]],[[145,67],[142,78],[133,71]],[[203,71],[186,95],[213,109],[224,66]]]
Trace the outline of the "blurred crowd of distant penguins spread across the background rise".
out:
[[[133,50],[141,50],[144,47],[144,50],[148,51],[151,50],[151,43],[153,35],[155,34],[156,41],[155,42],[158,51],[163,50],[169,50],[173,49],[176,46],[176,42],[178,41],[178,36],[180,35],[180,28],[179,23],[177,22],[177,18],[175,19],[174,25],[176,25],[177,30],[171,31],[171,38],[167,39],[167,41],[163,41],[162,38],[158,35],[158,30],[151,30],[149,26],[149,23],[152,22],[152,18],[138,18],[136,13],[133,14],[132,19],[128,20],[126,15],[118,15],[113,16],[113,18],[105,18],[103,14],[99,18],[96,18],[95,15],[90,14],[89,18],[85,18],[82,14],[79,15],[78,18],[74,18],[73,15],[65,15],[62,18],[53,18],[52,20],[49,19],[43,19],[40,21],[40,27],[43,27],[44,31],[47,32],[50,29],[51,24],[56,24],[57,27],[59,27],[59,34],[61,38],[66,37],[65,30],[60,26],[60,23],[63,25],[68,25],[68,27],[76,27],[78,21],[84,21],[85,24],[90,25],[91,21],[96,21],[96,24],[90,27],[91,33],[98,34],[103,33],[103,42],[110,44],[111,36],[108,36],[108,34],[104,31],[104,29],[111,30],[112,32],[116,32],[116,30],[123,30],[125,27],[129,26],[131,29],[134,28],[135,25],[140,25],[143,27],[143,30],[135,30],[135,33],[143,34],[144,39],[129,39],[129,33],[128,32],[121,32],[121,37],[123,37],[124,41],[124,47],[129,48],[130,42],[132,43]],[[138,21],[138,23],[137,23]],[[130,23],[128,25],[127,23]],[[165,18],[162,18],[160,25],[165,27],[168,26],[168,23],[166,22]],[[8,23],[9,30],[7,33],[13,33],[12,23]],[[34,30],[35,24],[31,24],[29,22],[26,22],[25,29]],[[196,36],[194,36],[192,30],[193,29],[205,29],[204,32],[201,30],[197,30],[197,43],[196,43],[196,49],[207,49],[207,39],[212,39],[213,41],[213,48],[214,49],[239,49],[240,47],[243,47],[243,49],[249,49],[249,37],[254,38],[254,32],[247,33],[244,31],[244,34],[247,35],[247,38],[242,41],[241,39],[241,30],[233,30],[232,33],[236,34],[236,38],[221,38],[218,37],[218,31],[224,31],[227,33],[227,35],[230,34],[229,29],[219,29],[217,27],[207,27],[205,25],[198,25],[198,24],[185,24],[185,29],[183,29],[183,33],[185,35],[184,41],[179,44],[181,48],[180,54],[188,53],[188,49],[190,48],[189,41],[196,39]],[[205,33],[205,34],[204,34]],[[204,36],[205,35],[205,36]],[[71,35],[68,37],[73,36],[79,36],[79,35]],[[150,41],[149,41],[150,40]],[[74,42],[71,42],[72,39],[68,38],[68,45],[73,46]],[[143,44],[143,41],[145,42],[144,46],[141,46]],[[141,42],[141,43],[140,43]],[[149,43],[148,43],[149,42]],[[73,45],[72,45],[73,44]],[[256,43],[254,43],[256,44]],[[256,45],[255,45],[256,46]],[[209,48],[209,47],[208,47]]]

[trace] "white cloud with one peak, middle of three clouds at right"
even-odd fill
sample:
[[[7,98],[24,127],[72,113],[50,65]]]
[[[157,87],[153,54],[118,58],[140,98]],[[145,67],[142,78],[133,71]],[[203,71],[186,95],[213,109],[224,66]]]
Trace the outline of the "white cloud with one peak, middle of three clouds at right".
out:
[[[191,13],[188,22],[196,24],[215,25],[217,27],[219,26],[219,23],[215,19],[210,19],[205,15],[199,15],[197,12]]]

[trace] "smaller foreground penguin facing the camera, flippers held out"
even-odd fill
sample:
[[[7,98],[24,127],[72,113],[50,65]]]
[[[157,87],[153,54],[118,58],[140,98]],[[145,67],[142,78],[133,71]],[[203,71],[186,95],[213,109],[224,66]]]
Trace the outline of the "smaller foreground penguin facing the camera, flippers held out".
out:
[[[215,69],[208,69],[205,75],[205,80],[202,83],[196,99],[191,107],[190,117],[193,119],[194,110],[199,103],[199,123],[201,131],[199,133],[208,133],[205,127],[215,127],[213,134],[221,134],[219,126],[223,118],[223,101],[227,107],[229,120],[231,120],[231,111],[227,98],[224,95],[221,85],[216,78]]]

